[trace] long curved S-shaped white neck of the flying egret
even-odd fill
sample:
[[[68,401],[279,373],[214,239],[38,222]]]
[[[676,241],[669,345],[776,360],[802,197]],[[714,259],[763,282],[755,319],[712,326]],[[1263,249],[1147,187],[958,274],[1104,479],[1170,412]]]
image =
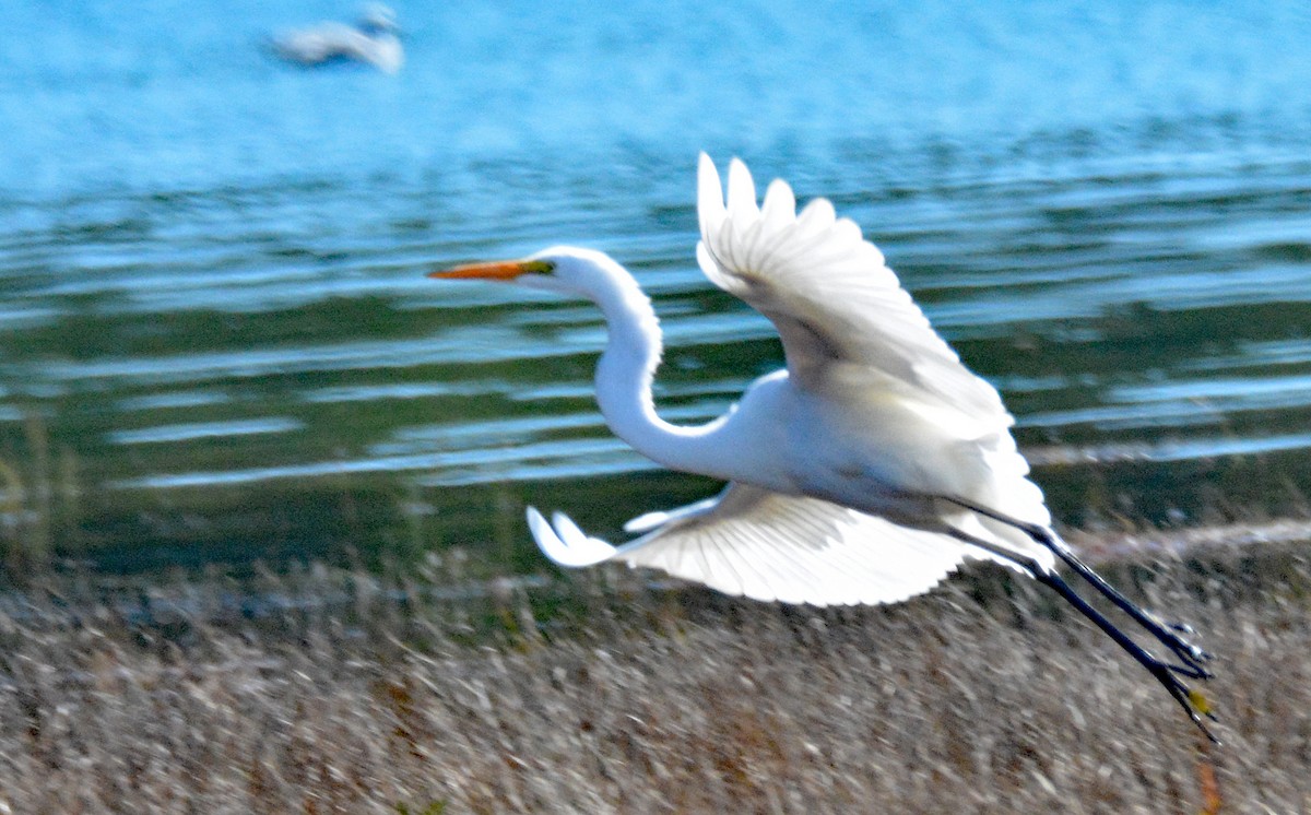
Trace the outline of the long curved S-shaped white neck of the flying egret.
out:
[[[729,422],[720,418],[699,427],[679,427],[656,414],[652,381],[662,351],[659,321],[632,275],[611,263],[611,284],[593,292],[610,328],[606,351],[597,363],[597,404],[606,422],[619,438],[665,466],[735,478],[738,473],[725,465],[743,453],[728,438]]]

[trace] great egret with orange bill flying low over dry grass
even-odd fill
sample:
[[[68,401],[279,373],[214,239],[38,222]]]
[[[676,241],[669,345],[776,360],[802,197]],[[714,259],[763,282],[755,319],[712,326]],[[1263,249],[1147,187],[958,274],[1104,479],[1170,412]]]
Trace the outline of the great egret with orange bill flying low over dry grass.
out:
[[[617,548],[562,514],[548,523],[530,508],[545,556],[574,567],[619,559],[732,595],[814,605],[895,603],[965,559],[996,561],[1059,592],[1214,739],[1201,718],[1214,718],[1205,697],[1181,679],[1209,679],[1210,655],[1184,637],[1190,629],[1137,607],[1057,536],[996,389],[961,364],[860,228],[822,198],[798,215],[783,181],[758,206],[735,159],[725,203],[704,153],[696,203],[701,270],[773,322],[787,358],[785,370],[758,379],[735,409],[700,427],[656,414],[656,312],[608,256],[555,246],[430,275],[510,280],[599,305],[610,339],[597,364],[597,402],[610,427],[665,466],[729,482],[714,498],[633,519],[625,529],[640,537]],[[1089,605],[1057,573],[1058,561],[1179,663]]]

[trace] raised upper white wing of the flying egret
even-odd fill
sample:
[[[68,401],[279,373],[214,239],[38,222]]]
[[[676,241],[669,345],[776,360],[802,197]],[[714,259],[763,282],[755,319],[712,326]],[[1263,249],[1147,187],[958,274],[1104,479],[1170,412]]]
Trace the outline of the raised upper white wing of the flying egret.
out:
[[[919,390],[1011,425],[992,385],[961,364],[882,253],[826,199],[798,216],[792,189],[775,181],[758,206],[751,174],[734,159],[725,206],[714,164],[701,153],[696,207],[701,270],[773,322],[798,384],[829,364],[852,363],[889,389]]]

